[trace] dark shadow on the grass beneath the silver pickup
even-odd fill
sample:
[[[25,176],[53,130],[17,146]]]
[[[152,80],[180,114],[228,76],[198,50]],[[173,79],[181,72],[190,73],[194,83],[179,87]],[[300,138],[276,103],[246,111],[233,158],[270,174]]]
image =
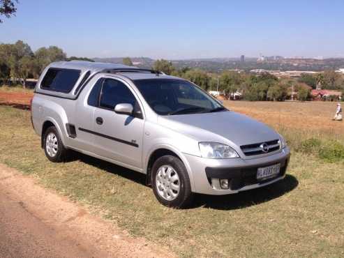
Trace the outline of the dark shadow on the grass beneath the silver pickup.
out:
[[[89,155],[84,155],[82,153],[77,153],[74,151],[73,155],[70,155],[70,159],[67,160],[67,162],[73,160],[80,160],[81,162],[84,162],[88,165],[97,167],[98,169],[102,169],[105,172],[117,174],[121,177],[124,177],[125,179],[147,186],[145,174],[135,172],[133,170],[127,169],[126,167],[114,165],[110,162],[99,160],[98,158],[93,158]],[[284,179],[276,183],[272,183],[271,185],[244,192],[239,192],[234,195],[196,194],[193,203],[190,206],[188,206],[187,209],[202,207],[229,211],[247,208],[249,206],[255,206],[258,204],[262,204],[264,202],[269,202],[272,199],[281,197],[285,195],[287,192],[290,192],[297,188],[297,185],[299,185],[299,181],[297,181],[297,178],[290,174],[287,174]]]

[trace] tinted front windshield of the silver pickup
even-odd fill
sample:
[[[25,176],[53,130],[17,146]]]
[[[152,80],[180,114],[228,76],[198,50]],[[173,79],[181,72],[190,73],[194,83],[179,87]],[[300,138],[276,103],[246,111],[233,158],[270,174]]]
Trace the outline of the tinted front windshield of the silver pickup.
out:
[[[227,110],[202,89],[183,79],[137,79],[134,82],[149,106],[160,115]]]

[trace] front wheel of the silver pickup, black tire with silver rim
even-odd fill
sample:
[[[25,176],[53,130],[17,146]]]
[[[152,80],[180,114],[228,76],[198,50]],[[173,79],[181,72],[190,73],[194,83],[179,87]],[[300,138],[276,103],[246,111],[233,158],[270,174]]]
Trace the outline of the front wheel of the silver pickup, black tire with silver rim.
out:
[[[151,184],[156,199],[165,206],[185,208],[193,199],[186,167],[173,155],[165,155],[154,162]]]

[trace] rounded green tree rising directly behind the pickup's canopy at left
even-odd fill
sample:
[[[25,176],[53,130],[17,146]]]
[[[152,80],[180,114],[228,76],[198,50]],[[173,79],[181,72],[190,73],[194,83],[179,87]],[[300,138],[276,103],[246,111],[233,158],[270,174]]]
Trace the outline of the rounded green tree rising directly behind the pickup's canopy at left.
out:
[[[39,73],[41,73],[43,69],[52,62],[66,60],[66,54],[63,52],[63,50],[55,46],[50,46],[48,48],[40,47],[35,52],[35,56]]]

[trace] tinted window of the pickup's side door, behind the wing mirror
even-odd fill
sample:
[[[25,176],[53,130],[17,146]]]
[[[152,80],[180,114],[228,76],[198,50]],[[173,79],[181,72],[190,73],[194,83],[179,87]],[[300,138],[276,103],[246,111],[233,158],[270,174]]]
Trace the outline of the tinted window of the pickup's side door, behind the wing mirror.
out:
[[[115,79],[105,79],[100,96],[100,107],[114,109],[119,103],[130,103],[135,107],[136,99],[124,83]]]

